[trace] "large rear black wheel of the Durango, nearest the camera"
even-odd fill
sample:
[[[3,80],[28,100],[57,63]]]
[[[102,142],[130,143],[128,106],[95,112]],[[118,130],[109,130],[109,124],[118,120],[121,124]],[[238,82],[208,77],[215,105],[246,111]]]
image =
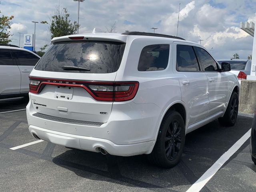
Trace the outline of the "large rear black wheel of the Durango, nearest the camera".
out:
[[[157,166],[171,168],[178,164],[184,144],[184,120],[178,112],[170,111],[162,120],[156,144],[148,160]]]

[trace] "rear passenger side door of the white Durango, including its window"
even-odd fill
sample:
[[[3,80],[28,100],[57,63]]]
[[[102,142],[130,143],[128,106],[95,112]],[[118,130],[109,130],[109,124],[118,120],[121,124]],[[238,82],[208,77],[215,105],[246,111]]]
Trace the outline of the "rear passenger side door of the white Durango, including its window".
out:
[[[176,74],[179,75],[182,101],[189,115],[188,126],[206,118],[208,100],[208,81],[200,70],[194,48],[189,44],[176,46]]]

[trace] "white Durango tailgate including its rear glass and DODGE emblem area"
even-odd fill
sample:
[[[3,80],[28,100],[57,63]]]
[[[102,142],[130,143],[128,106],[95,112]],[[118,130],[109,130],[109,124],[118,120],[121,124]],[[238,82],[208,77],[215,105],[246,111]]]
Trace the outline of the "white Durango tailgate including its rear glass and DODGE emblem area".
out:
[[[37,77],[45,82],[38,94],[30,95],[34,108],[38,107],[36,112],[74,120],[107,122],[113,103],[112,83],[124,48],[125,43],[119,42],[53,44],[30,74],[35,84]],[[96,93],[100,100],[90,92]]]

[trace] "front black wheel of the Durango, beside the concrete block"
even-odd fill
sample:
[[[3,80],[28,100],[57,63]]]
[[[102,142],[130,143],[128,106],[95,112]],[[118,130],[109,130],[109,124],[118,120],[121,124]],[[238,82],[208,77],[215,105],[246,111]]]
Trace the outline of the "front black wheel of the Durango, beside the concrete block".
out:
[[[236,119],[238,115],[238,104],[238,94],[236,92],[233,92],[224,116],[218,119],[220,124],[224,126],[234,126],[234,124],[236,124]]]

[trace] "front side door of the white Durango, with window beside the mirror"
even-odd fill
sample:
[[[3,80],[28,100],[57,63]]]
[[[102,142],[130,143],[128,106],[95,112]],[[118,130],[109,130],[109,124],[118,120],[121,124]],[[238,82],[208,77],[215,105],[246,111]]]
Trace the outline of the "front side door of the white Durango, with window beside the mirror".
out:
[[[202,70],[205,72],[209,90],[210,107],[207,116],[224,111],[228,102],[229,72],[220,72],[220,66],[210,54],[200,47],[194,47],[199,58]]]

